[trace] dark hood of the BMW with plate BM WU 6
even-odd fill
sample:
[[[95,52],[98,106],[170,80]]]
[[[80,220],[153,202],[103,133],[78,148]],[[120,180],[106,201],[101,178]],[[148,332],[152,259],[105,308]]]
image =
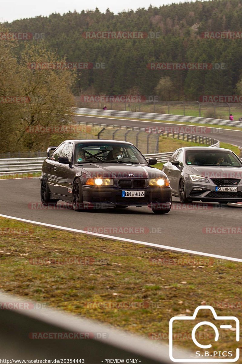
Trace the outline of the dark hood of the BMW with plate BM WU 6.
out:
[[[87,178],[165,178],[164,172],[150,166],[131,163],[90,163],[75,165],[80,170],[78,175]]]

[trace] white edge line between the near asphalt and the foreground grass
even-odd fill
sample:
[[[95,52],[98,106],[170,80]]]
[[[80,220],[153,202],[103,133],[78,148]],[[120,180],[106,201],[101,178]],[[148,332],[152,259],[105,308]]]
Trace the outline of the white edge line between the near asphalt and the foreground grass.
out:
[[[139,240],[132,240],[132,239],[120,238],[120,237],[117,237],[117,236],[111,236],[111,235],[105,235],[105,234],[98,234],[98,233],[91,233],[91,232],[87,232],[87,231],[84,231],[84,230],[72,229],[71,227],[64,227],[64,226],[47,224],[47,223],[44,223],[44,222],[26,220],[26,219],[21,219],[19,217],[14,217],[14,216],[8,216],[8,215],[2,215],[2,214],[0,214],[0,217],[5,217],[5,218],[8,218],[8,219],[18,220],[18,221],[22,221],[22,222],[29,222],[29,223],[32,223],[32,224],[35,224],[35,225],[41,225],[41,226],[46,226],[46,227],[53,227],[54,229],[65,230],[65,231],[69,231],[69,232],[73,232],[73,233],[87,234],[87,235],[97,236],[97,237],[100,237],[100,238],[106,238],[106,239],[112,239],[112,240],[118,240],[118,241],[125,241],[125,242],[129,242],[129,243],[134,243],[134,244],[152,246],[154,248],[159,248],[159,249],[173,250],[175,252],[188,253],[188,254],[196,254],[196,255],[201,255],[201,256],[204,256],[204,257],[212,257],[212,258],[217,258],[217,259],[225,259],[225,260],[230,260],[230,261],[234,261],[234,262],[242,262],[242,259],[239,259],[239,258],[226,257],[226,256],[217,255],[217,254],[210,254],[210,253],[202,253],[202,252],[197,252],[196,250],[174,248],[173,246],[147,243],[145,241],[139,241]]]

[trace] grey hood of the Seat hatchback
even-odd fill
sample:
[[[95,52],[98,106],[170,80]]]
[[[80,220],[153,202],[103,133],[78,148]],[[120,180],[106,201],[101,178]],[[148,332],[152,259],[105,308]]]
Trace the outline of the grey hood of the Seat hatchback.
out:
[[[227,166],[187,166],[188,174],[196,174],[207,178],[242,178],[242,167]]]

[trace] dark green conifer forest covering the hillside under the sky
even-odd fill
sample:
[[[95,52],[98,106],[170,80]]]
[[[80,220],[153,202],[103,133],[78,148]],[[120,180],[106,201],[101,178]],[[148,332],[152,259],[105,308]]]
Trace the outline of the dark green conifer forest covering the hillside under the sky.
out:
[[[70,62],[104,67],[78,70],[75,95],[157,95],[161,100],[198,100],[200,95],[234,95],[242,77],[242,34],[238,39],[204,39],[204,32],[240,32],[242,1],[186,2],[123,11],[58,13],[4,23],[11,32],[44,33],[48,49]],[[144,39],[86,39],[84,32],[129,31]],[[18,57],[25,47],[18,41]],[[150,70],[149,63],[224,64],[218,70]],[[164,90],[169,86],[169,91]]]

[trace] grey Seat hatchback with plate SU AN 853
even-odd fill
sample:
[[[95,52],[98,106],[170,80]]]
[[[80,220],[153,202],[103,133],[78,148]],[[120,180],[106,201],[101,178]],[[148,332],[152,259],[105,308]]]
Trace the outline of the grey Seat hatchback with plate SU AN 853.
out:
[[[229,149],[177,149],[163,166],[172,195],[181,203],[192,201],[242,202],[242,162]]]

